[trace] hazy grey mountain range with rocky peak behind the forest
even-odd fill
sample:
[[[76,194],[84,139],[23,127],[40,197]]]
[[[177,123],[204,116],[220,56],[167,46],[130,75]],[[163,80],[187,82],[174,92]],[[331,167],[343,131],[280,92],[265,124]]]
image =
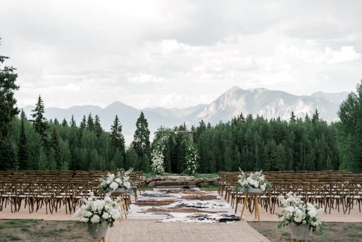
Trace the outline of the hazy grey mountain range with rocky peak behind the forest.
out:
[[[93,105],[72,106],[70,108],[45,108],[47,119],[63,118],[68,121],[74,115],[77,124],[81,122],[83,115],[88,117],[98,115],[102,127],[108,131],[115,116],[121,120],[123,134],[126,143],[130,143],[136,129],[136,120],[143,111],[148,120],[149,129],[153,134],[161,125],[173,127],[185,122],[188,126],[198,125],[201,120],[206,123],[217,124],[220,121],[227,122],[233,116],[240,113],[244,115],[259,115],[266,119],[280,117],[289,120],[292,111],[296,117],[311,116],[318,109],[319,116],[328,122],[338,120],[337,110],[339,104],[346,99],[348,92],[326,93],[315,92],[311,96],[296,96],[284,91],[269,90],[265,88],[241,89],[234,86],[224,92],[220,97],[209,104],[198,104],[187,108],[144,108],[137,109],[121,102],[113,102],[105,108]],[[24,107],[27,117],[30,118],[34,106]]]

